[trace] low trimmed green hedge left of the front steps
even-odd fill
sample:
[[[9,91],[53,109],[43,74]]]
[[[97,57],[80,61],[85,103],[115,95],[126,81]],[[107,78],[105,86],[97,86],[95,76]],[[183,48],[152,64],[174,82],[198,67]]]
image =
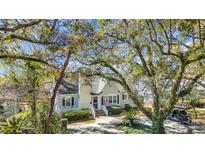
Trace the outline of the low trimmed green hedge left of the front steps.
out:
[[[81,109],[79,111],[65,112],[62,115],[62,118],[68,119],[68,121],[89,119],[92,116],[89,109]]]

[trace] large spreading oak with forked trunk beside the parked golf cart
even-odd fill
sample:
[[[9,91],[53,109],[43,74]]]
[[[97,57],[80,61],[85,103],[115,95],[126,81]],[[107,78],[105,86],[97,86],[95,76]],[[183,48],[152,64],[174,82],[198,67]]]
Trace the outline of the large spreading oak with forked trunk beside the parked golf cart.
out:
[[[91,49],[77,59],[84,75],[120,84],[152,120],[153,133],[164,133],[174,105],[204,78],[204,21],[114,20],[97,31]],[[152,111],[139,99],[143,91]]]

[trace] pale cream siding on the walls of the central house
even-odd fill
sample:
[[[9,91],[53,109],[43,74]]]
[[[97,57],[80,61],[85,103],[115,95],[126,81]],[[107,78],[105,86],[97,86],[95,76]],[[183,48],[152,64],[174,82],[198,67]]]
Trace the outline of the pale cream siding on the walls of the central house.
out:
[[[82,80],[82,78],[79,79],[79,94],[68,94],[68,95],[57,95],[56,97],[56,102],[55,102],[55,111],[57,113],[62,113],[62,112],[67,112],[67,111],[72,111],[72,110],[78,110],[78,109],[82,109],[82,108],[90,108],[91,107],[91,95],[90,93],[92,92],[92,88],[90,85],[86,85],[84,83],[84,81]],[[103,82],[99,83],[99,87],[97,85],[96,89],[100,89],[102,88],[101,86],[104,86]],[[126,94],[126,93],[122,93],[122,87],[119,86],[118,84],[115,83],[111,83],[111,84],[106,84],[104,86],[103,89],[101,89],[102,93],[100,95],[96,95],[98,97],[98,109],[102,109],[102,105],[101,105],[101,98],[102,96],[118,96],[119,95],[119,105],[124,107],[125,104],[130,104],[132,106],[135,106],[134,103],[132,103],[131,99],[122,99],[122,94]],[[98,91],[98,92],[101,92]],[[74,107],[63,107],[63,98],[65,97],[74,97],[75,100],[75,104],[77,104]],[[116,103],[118,104],[118,103]]]

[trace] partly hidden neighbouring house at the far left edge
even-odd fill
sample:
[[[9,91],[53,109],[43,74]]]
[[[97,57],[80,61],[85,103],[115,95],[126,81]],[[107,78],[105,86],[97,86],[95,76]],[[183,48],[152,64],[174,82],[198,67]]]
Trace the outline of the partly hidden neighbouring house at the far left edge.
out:
[[[13,85],[0,85],[0,116],[8,118],[19,112],[17,89]]]

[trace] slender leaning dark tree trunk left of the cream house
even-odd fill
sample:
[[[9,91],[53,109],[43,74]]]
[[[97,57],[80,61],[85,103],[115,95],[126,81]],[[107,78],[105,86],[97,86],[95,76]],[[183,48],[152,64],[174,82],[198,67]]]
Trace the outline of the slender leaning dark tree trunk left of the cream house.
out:
[[[66,68],[68,66],[70,56],[71,56],[71,51],[69,51],[68,54],[67,54],[67,58],[66,58],[66,60],[65,60],[65,62],[63,64],[63,68],[62,68],[62,70],[60,72],[60,75],[59,75],[59,77],[58,77],[58,79],[56,81],[55,87],[53,89],[53,94],[52,94],[52,97],[51,97],[51,100],[50,100],[51,105],[50,105],[50,109],[49,109],[49,114],[48,114],[48,118],[47,118],[47,120],[45,122],[45,128],[44,128],[44,133],[45,134],[49,133],[49,127],[50,127],[50,123],[51,123],[51,118],[52,118],[52,114],[53,114],[53,111],[54,111],[53,108],[54,108],[54,104],[55,104],[55,98],[56,98],[56,95],[57,95],[60,83],[61,83],[61,81],[62,81],[62,79],[64,77],[65,70],[66,70]]]

